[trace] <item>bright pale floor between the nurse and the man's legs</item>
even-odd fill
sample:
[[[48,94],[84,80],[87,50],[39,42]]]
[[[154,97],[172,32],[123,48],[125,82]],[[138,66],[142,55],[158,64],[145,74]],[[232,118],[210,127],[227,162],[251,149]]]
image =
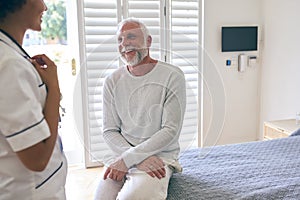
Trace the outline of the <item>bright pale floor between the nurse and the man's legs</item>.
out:
[[[70,166],[66,183],[67,200],[93,200],[102,169]]]

